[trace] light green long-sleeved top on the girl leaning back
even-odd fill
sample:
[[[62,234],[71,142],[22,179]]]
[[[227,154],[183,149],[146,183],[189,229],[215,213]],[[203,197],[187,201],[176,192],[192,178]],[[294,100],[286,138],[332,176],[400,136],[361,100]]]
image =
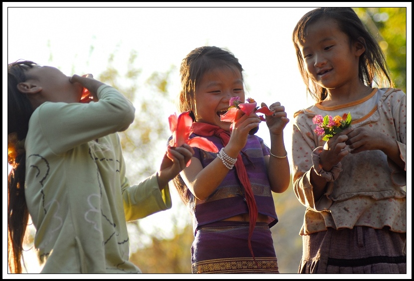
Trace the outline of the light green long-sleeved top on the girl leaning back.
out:
[[[126,221],[170,209],[157,174],[130,186],[117,132],[135,108],[110,86],[89,104],[46,102],[25,141],[27,207],[41,273],[141,273],[128,261]]]

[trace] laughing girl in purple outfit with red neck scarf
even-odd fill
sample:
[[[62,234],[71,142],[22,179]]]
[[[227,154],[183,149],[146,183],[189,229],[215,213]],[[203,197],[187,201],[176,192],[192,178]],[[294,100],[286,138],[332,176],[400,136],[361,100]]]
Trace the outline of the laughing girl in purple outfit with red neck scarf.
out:
[[[221,121],[230,100],[246,99],[242,71],[232,53],[214,46],[194,49],[180,67],[179,109],[193,117],[190,138],[204,137],[219,150],[194,148],[190,165],[174,180],[192,215],[193,273],[279,273],[272,192],[284,192],[290,181],[283,142],[289,119],[279,102],[270,105],[270,148],[249,134],[261,122],[254,111]]]

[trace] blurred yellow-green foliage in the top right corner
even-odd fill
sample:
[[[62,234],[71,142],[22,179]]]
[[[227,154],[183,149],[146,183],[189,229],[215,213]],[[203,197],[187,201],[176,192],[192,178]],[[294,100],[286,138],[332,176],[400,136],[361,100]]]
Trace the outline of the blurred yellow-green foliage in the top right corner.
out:
[[[354,10],[384,51],[395,86],[407,93],[407,7]]]

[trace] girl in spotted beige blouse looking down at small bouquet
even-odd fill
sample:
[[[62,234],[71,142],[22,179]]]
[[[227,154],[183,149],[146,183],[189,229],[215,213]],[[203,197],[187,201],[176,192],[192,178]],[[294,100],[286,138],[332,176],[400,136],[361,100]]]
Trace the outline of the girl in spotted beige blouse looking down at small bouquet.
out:
[[[407,273],[406,94],[352,8],[309,11],[293,43],[317,102],[293,124],[293,185],[306,206],[299,273]],[[315,124],[348,114],[351,126],[322,140]]]

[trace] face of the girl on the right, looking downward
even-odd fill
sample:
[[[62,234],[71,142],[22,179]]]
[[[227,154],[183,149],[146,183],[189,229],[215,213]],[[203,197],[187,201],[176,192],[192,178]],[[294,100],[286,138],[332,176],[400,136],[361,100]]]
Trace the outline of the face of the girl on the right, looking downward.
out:
[[[358,83],[359,57],[365,48],[351,43],[335,20],[320,19],[307,27],[304,42],[299,42],[309,77],[326,89]]]

